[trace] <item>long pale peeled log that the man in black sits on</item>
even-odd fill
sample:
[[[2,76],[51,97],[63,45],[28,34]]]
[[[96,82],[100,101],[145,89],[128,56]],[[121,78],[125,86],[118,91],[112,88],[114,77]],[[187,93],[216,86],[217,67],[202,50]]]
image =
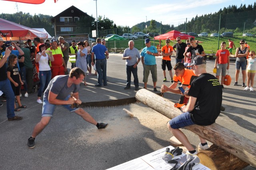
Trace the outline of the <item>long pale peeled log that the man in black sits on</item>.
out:
[[[179,109],[174,107],[173,102],[146,89],[140,89],[135,97],[138,101],[170,119],[182,113]],[[222,127],[217,123],[210,126],[191,125],[186,127],[186,129],[256,167],[256,143],[248,138]]]

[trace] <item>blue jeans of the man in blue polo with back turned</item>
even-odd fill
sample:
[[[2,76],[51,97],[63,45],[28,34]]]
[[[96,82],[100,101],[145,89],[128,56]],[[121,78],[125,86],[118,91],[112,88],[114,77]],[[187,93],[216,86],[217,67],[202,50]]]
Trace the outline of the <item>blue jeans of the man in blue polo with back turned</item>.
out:
[[[96,59],[96,70],[98,73],[98,85],[102,86],[102,79],[104,85],[107,85],[107,61],[106,59]]]

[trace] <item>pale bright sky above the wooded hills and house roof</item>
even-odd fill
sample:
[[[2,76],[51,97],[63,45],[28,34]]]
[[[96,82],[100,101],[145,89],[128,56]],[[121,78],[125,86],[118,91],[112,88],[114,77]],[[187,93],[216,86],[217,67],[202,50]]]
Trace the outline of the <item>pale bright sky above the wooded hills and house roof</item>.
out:
[[[178,26],[191,20],[196,15],[218,12],[229,5],[254,4],[256,0],[97,0],[98,16],[113,20],[117,26],[129,26],[149,20],[162,24]],[[74,2],[74,3],[72,3]],[[182,3],[180,3],[182,2]],[[1,13],[17,12],[16,3],[1,0]],[[45,14],[56,16],[63,10],[74,5],[76,8],[96,18],[96,0],[45,0],[43,4],[17,3],[18,11],[23,13]],[[7,8],[8,7],[8,8]]]

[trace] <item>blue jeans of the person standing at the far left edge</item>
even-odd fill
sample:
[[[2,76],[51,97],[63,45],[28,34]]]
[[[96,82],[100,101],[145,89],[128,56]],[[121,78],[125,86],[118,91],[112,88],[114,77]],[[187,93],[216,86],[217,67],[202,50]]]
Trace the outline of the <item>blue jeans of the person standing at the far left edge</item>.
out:
[[[6,95],[7,117],[13,118],[14,114],[14,93],[9,79],[0,81],[0,90]]]

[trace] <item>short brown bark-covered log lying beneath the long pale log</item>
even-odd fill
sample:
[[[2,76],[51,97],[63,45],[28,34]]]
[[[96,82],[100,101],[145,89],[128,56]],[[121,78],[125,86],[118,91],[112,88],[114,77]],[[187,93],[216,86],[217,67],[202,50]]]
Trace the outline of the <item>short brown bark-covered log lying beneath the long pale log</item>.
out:
[[[197,154],[200,163],[211,170],[242,170],[249,164],[213,144]]]

